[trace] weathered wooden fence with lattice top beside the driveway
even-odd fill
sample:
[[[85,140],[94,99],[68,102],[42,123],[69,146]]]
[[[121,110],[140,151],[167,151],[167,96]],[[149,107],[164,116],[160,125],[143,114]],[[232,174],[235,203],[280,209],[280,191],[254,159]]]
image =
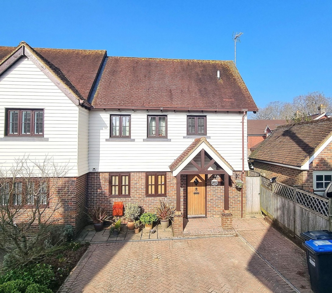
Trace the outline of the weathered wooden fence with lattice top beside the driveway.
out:
[[[286,227],[292,235],[308,230],[329,230],[329,199],[261,176],[260,206],[263,213]]]

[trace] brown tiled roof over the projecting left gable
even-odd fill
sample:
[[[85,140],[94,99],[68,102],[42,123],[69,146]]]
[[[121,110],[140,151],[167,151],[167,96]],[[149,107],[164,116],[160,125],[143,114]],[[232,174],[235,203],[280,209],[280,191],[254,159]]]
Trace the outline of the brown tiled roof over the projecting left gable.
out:
[[[30,48],[77,97],[88,99],[106,57],[106,50],[32,48],[27,43],[21,42],[18,47],[0,46],[0,64],[22,45]]]

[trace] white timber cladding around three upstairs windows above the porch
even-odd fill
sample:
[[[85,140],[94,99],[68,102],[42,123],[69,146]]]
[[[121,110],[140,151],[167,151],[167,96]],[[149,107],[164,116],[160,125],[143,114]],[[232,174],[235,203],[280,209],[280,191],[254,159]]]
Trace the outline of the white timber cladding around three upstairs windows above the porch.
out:
[[[131,116],[131,141],[110,139],[110,115]],[[147,116],[167,115],[167,140],[147,138]],[[97,172],[169,171],[169,165],[194,141],[187,136],[187,115],[207,116],[207,140],[234,168],[242,170],[240,112],[147,112],[91,110],[89,167]],[[247,117],[244,117],[244,157],[247,157]],[[245,160],[245,170],[248,163]]]

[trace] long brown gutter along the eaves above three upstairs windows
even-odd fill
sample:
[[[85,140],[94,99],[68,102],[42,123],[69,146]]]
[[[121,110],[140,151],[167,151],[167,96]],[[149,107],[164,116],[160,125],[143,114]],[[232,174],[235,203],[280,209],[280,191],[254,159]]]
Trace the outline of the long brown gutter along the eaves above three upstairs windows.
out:
[[[180,107],[108,107],[108,106],[92,106],[93,109],[105,110],[156,110],[156,111],[209,111],[209,112],[243,112],[243,108],[180,108]],[[258,109],[245,109],[245,111],[258,111]]]

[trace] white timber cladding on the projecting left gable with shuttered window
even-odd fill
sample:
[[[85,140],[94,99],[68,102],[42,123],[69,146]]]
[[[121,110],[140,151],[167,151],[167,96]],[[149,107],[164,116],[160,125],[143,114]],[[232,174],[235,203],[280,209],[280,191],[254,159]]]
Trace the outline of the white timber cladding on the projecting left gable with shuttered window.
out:
[[[43,138],[4,137],[6,108],[44,109]],[[79,115],[80,113],[80,115]],[[80,121],[78,121],[80,118]],[[33,161],[53,158],[67,165],[66,176],[88,170],[88,114],[59,89],[27,57],[20,58],[0,76],[0,168],[9,168],[15,160],[29,156]],[[78,137],[78,123],[82,131]],[[78,155],[79,152],[79,155]],[[80,170],[78,170],[80,168]]]

